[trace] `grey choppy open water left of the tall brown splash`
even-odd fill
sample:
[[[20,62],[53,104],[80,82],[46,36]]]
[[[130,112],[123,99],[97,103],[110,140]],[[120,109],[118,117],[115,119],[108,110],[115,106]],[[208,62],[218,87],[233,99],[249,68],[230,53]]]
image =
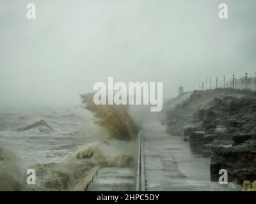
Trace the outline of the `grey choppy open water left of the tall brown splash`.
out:
[[[51,163],[63,159],[90,138],[77,131],[88,115],[83,108],[40,108],[40,110],[0,110],[0,144],[19,156],[22,169],[33,163]],[[44,120],[44,125],[26,131],[16,129]]]

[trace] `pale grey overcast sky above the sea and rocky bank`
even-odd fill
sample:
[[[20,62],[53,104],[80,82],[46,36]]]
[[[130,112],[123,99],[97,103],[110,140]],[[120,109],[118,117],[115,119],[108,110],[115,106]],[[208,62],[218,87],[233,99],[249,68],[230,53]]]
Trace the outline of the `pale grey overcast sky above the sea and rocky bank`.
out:
[[[255,9],[255,0],[1,0],[0,106],[78,105],[108,77],[163,82],[169,98],[206,77],[255,75]]]

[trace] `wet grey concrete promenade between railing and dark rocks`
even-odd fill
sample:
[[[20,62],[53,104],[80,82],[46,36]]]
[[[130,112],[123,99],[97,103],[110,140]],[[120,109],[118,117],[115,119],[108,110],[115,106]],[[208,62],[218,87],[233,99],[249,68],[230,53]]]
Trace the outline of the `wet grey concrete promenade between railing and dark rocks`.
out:
[[[146,191],[241,191],[210,180],[210,159],[191,151],[181,136],[170,136],[159,122],[143,127]]]

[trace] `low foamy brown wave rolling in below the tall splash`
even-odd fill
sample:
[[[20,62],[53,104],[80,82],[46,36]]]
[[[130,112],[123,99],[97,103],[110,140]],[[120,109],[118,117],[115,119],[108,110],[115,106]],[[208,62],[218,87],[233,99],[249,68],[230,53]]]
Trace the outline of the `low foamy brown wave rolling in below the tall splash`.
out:
[[[106,143],[92,144],[67,157],[60,163],[35,164],[36,185],[29,186],[35,191],[83,191],[92,178],[92,172],[100,167],[131,167],[132,154],[106,155]],[[112,147],[111,147],[112,148]]]

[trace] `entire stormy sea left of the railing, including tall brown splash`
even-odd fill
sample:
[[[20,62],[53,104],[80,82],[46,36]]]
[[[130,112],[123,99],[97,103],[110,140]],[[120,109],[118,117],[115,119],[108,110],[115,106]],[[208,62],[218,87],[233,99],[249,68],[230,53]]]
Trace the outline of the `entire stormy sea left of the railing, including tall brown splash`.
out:
[[[0,190],[84,191],[95,175],[90,190],[132,190],[138,124],[128,106],[81,99],[72,108],[0,109]]]

